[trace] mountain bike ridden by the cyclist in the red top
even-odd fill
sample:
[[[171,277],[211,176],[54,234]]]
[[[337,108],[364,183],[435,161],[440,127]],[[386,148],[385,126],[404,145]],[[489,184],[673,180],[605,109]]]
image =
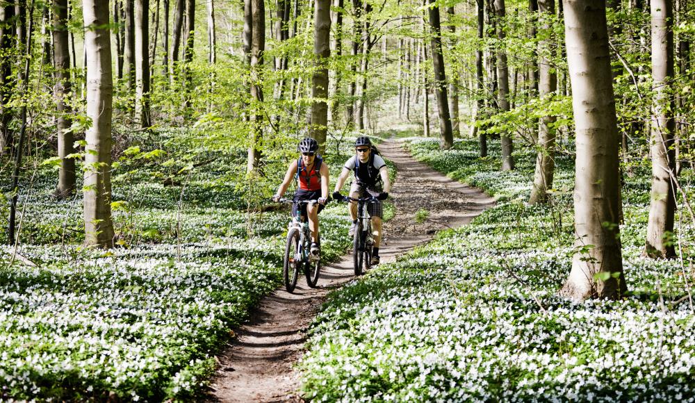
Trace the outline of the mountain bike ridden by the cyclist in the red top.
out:
[[[282,277],[285,281],[285,289],[292,293],[297,286],[297,277],[303,268],[306,283],[315,288],[318,283],[318,275],[321,271],[321,256],[313,255],[311,249],[311,231],[306,217],[302,217],[301,206],[317,204],[318,200],[280,199],[279,203],[297,204],[297,214],[292,217],[287,228],[287,243],[285,246],[285,258],[282,267]]]

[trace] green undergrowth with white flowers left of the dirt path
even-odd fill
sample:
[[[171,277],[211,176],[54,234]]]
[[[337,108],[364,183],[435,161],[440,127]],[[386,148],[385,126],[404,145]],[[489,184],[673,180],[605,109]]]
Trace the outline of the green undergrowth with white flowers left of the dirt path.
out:
[[[192,147],[195,135],[133,133],[117,150],[112,207],[121,246],[110,250],[81,245],[81,196],[55,199],[54,167],[30,162],[19,248],[0,247],[0,400],[204,395],[229,329],[281,285],[290,217],[270,196],[297,152],[287,140],[264,176],[247,181],[245,150]],[[345,138],[341,155],[327,156],[332,178],[353,142]],[[345,205],[329,204],[320,218],[322,258],[333,261],[351,245]]]

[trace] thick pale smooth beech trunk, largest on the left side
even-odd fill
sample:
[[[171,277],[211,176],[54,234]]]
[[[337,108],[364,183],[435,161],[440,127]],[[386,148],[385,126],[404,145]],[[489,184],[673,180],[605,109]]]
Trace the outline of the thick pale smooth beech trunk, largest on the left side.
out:
[[[87,49],[87,116],[85,133],[84,219],[85,245],[113,247],[111,221],[111,37],[108,3],[83,1]]]

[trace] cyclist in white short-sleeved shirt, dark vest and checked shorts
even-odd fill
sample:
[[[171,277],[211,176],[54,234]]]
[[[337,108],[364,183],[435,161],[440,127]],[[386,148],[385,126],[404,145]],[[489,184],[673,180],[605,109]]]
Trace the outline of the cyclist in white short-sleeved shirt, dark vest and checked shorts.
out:
[[[343,197],[340,190],[350,174],[354,172],[355,181],[350,186],[350,197],[358,198],[365,197],[369,194],[376,197],[378,200],[367,204],[367,212],[372,217],[374,247],[372,249],[372,265],[379,264],[379,242],[382,238],[382,203],[389,197],[391,189],[391,181],[389,181],[389,170],[386,168],[384,158],[379,156],[372,147],[372,141],[368,137],[359,137],[354,142],[355,155],[350,157],[343,166],[341,175],[338,176],[338,182],[333,192],[333,198],[340,200]],[[352,226],[350,226],[350,236],[354,236],[354,228],[357,225],[357,203],[350,203],[348,206],[350,217],[352,217]]]

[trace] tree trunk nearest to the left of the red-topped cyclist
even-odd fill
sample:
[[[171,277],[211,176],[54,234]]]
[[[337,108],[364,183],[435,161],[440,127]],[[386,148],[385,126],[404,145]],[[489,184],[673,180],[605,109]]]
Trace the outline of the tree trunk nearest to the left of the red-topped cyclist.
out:
[[[263,52],[265,52],[265,5],[263,0],[251,1],[251,124],[254,138],[249,147],[247,172],[257,171],[263,142]]]

